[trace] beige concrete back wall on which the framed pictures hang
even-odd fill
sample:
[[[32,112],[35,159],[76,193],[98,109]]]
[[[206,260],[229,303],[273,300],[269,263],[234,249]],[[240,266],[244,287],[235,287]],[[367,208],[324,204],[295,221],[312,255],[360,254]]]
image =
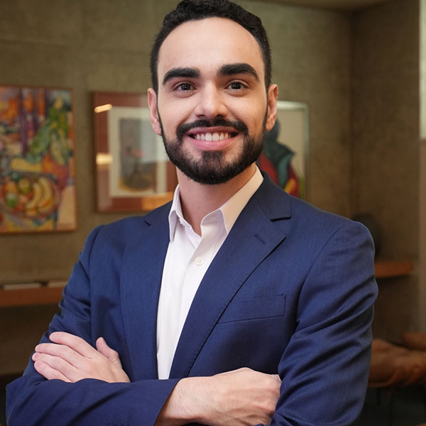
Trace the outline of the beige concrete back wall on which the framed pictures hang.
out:
[[[241,3],[261,16],[271,37],[280,99],[310,104],[310,201],[349,214],[349,16],[256,1]],[[0,84],[74,89],[79,219],[78,230],[71,233],[1,235],[0,281],[67,277],[89,230],[121,217],[94,212],[90,93],[146,91],[151,40],[175,4],[0,1]],[[0,310],[4,326],[0,374],[25,366],[53,312],[53,307]]]

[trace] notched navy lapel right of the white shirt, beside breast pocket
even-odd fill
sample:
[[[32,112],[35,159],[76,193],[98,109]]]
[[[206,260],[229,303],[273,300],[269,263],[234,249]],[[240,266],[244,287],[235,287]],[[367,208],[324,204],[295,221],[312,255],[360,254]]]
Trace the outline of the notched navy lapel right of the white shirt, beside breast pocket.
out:
[[[290,216],[288,198],[268,178],[251,197],[204,275],[188,312],[170,378],[188,376],[202,346],[232,297],[259,263],[285,239],[271,219]],[[271,186],[273,185],[273,186]],[[275,190],[278,190],[278,192]],[[273,206],[266,214],[263,203]],[[277,202],[281,200],[281,202]],[[262,206],[262,207],[261,207]]]

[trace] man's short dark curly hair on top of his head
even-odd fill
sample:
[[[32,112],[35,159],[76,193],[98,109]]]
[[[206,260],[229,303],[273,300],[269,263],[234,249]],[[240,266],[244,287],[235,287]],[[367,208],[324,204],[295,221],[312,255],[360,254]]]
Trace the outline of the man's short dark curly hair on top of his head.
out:
[[[262,21],[258,16],[243,9],[239,4],[228,0],[182,0],[174,11],[168,13],[151,49],[151,80],[153,89],[158,92],[158,53],[165,38],[181,23],[200,21],[205,18],[226,18],[239,23],[246,28],[261,47],[263,63],[265,65],[265,85],[268,89],[271,84],[272,60],[268,36]]]

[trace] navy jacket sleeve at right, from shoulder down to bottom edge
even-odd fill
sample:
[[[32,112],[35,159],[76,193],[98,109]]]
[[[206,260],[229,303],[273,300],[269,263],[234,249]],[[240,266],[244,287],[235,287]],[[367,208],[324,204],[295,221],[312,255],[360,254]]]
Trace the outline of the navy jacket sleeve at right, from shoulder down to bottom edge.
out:
[[[302,286],[297,327],[278,368],[283,382],[271,425],[356,424],[376,295],[371,235],[346,222],[322,246]]]

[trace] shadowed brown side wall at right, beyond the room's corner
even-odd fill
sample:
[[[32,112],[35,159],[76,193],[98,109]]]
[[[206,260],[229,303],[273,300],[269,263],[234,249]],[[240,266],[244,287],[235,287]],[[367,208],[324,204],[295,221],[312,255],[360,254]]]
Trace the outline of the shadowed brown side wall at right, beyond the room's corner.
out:
[[[381,258],[419,258],[419,2],[353,16],[351,210],[381,229]],[[400,340],[420,327],[417,272],[379,281],[373,332]]]

